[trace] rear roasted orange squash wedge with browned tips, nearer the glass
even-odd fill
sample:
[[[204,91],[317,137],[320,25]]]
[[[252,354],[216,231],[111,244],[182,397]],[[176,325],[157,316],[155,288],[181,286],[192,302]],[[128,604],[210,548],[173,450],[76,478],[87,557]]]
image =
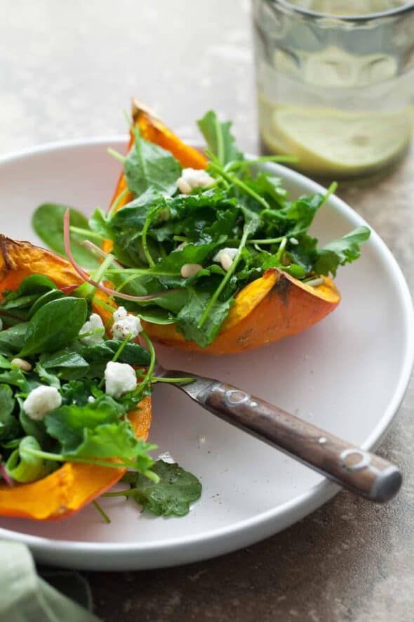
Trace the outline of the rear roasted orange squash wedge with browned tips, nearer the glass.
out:
[[[136,100],[133,101],[133,119],[144,138],[171,151],[182,166],[206,168],[207,160],[203,155],[182,143]],[[132,134],[130,148],[131,145]],[[112,202],[125,188],[126,181],[121,176]],[[132,195],[128,200],[131,198]],[[118,209],[121,205],[125,203],[121,202]],[[112,242],[105,242],[105,250],[111,247]],[[152,339],[167,346],[215,355],[234,354],[296,335],[323,319],[339,302],[340,293],[332,279],[323,277],[321,285],[311,287],[278,268],[272,268],[236,294],[220,333],[206,348],[187,341],[174,324],[142,322],[142,325]]]

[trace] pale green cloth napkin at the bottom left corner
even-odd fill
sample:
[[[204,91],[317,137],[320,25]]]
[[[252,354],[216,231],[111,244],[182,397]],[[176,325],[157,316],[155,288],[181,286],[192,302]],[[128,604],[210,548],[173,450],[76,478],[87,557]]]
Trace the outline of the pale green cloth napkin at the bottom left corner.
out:
[[[70,572],[47,571],[51,582],[64,585]],[[78,581],[82,581],[77,575]],[[99,622],[36,573],[27,546],[0,541],[0,620],[7,622]]]

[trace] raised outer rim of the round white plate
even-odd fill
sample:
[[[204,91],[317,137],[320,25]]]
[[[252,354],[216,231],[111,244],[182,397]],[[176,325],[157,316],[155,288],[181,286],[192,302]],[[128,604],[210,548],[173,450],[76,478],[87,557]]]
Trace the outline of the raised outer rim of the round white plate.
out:
[[[61,141],[51,141],[48,143],[42,143],[40,145],[34,145],[30,148],[13,151],[11,153],[0,156],[0,167],[3,167],[7,164],[13,164],[13,162],[25,159],[27,157],[32,157],[34,155],[47,155],[57,150],[67,150],[79,147],[88,148],[93,145],[104,146],[108,144],[122,146],[126,145],[127,141],[128,136],[124,134],[92,137],[86,136],[83,138],[70,138]],[[193,144],[196,144],[194,143],[194,141],[192,142]],[[323,188],[323,186],[321,186],[316,181],[308,178],[307,176],[299,173],[298,171],[288,169],[282,164],[276,164],[272,162],[267,164],[266,166],[276,171],[276,173],[283,175],[286,179],[289,179],[289,181],[299,181],[305,183],[307,186],[310,185],[311,188],[309,189],[314,192],[324,193],[326,191],[326,188]],[[403,363],[401,365],[399,381],[396,383],[392,399],[390,399],[389,403],[387,404],[387,407],[385,408],[384,413],[380,421],[378,422],[378,425],[375,426],[366,441],[361,443],[361,448],[370,450],[378,446],[378,444],[384,438],[385,434],[387,434],[387,431],[392,424],[394,417],[396,416],[399,406],[401,406],[403,398],[406,394],[406,390],[408,389],[408,384],[410,382],[411,372],[414,365],[413,301],[410,296],[410,291],[408,289],[406,279],[403,276],[403,272],[401,271],[401,268],[396,261],[394,255],[389,250],[380,235],[376,233],[376,231],[366,222],[365,219],[363,219],[363,217],[358,212],[356,212],[344,200],[340,199],[340,197],[337,197],[335,195],[330,196],[328,202],[331,204],[330,207],[335,209],[336,212],[339,212],[340,215],[345,216],[349,223],[353,224],[354,226],[365,225],[370,228],[370,245],[373,245],[374,251],[377,254],[379,254],[380,256],[385,256],[385,258],[387,259],[387,263],[391,266],[392,273],[394,274],[396,288],[399,292],[401,299],[401,309],[403,310],[403,330],[408,336],[405,342],[405,351],[403,354]],[[261,527],[261,535],[258,536],[258,538],[250,538],[250,540],[248,540],[249,543],[253,543],[254,541],[261,539],[262,537],[271,535],[271,533],[276,533],[271,529],[269,530],[269,526],[272,525],[275,519],[288,517],[288,514],[295,513],[297,517],[293,517],[293,521],[290,521],[290,519],[288,519],[285,526],[282,527],[282,529],[286,529],[287,526],[294,524],[302,517],[305,517],[310,512],[316,510],[317,507],[323,505],[323,503],[326,503],[326,501],[332,498],[336,493],[338,493],[338,491],[340,491],[340,486],[333,484],[333,482],[329,481],[328,479],[323,479],[317,484],[314,484],[314,486],[309,488],[309,490],[307,490],[305,493],[302,493],[294,499],[278,505],[276,508],[272,508],[270,510],[266,510],[265,512],[261,512],[260,514],[256,514],[254,517],[248,519],[241,519],[231,525],[213,529],[211,531],[204,531],[201,534],[196,534],[193,536],[182,536],[180,538],[171,538],[161,541],[150,540],[146,541],[145,543],[99,543],[90,541],[80,542],[79,540],[55,540],[42,536],[33,536],[29,533],[21,533],[20,531],[12,531],[3,527],[0,528],[0,538],[8,538],[11,540],[18,540],[19,542],[25,543],[29,545],[34,553],[36,555],[38,554],[39,557],[44,557],[45,553],[53,553],[53,551],[59,553],[66,552],[71,557],[73,557],[74,555],[93,552],[94,557],[98,557],[98,559],[102,559],[107,555],[112,555],[114,553],[125,555],[126,557],[128,557],[128,559],[131,559],[131,557],[135,557],[142,552],[151,553],[159,552],[160,550],[166,549],[186,550],[187,548],[191,548],[194,545],[203,545],[204,547],[206,547],[215,540],[222,540],[230,537],[234,538],[239,533],[255,533],[255,531],[257,531],[257,528]],[[246,543],[243,543],[241,546],[248,545],[248,542],[246,540]],[[221,550],[221,552],[229,552],[229,550],[234,550],[236,548],[239,548],[238,545],[234,545],[232,546],[232,548],[228,548],[227,550]],[[221,552],[216,552],[215,555],[220,555]],[[203,555],[198,555],[197,559],[206,559],[207,557],[211,557],[208,551],[205,552]],[[189,561],[194,561],[194,559],[189,559]],[[174,562],[172,562],[172,564],[173,563]],[[182,563],[182,561],[178,563]],[[126,565],[128,567],[132,567],[131,564]],[[162,564],[162,566],[167,565],[168,564],[165,563]],[[93,566],[93,564],[91,564],[91,566]],[[91,566],[87,565],[85,567]],[[149,565],[142,567],[149,567]]]

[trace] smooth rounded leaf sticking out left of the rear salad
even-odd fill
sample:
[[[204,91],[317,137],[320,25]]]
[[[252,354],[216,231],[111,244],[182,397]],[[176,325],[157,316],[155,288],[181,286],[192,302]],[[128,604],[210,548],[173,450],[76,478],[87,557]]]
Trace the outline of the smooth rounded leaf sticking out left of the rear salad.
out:
[[[58,254],[66,257],[65,243],[63,241],[63,216],[67,210],[67,205],[60,203],[44,203],[39,205],[32,216],[32,227],[34,233],[39,236],[42,242]],[[74,207],[69,207],[70,224],[72,227],[88,230],[88,219],[84,214]],[[97,268],[100,265],[97,259],[82,244],[88,236],[84,233],[71,234],[71,249],[77,263],[84,268]],[[91,236],[92,239],[92,236]]]

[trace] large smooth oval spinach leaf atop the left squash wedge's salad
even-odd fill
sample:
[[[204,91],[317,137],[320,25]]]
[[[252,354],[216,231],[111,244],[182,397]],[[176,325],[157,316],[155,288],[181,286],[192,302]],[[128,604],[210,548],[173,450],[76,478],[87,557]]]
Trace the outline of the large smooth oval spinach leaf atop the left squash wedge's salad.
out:
[[[72,342],[86,321],[84,298],[65,296],[41,306],[27,325],[20,356],[53,352]]]

